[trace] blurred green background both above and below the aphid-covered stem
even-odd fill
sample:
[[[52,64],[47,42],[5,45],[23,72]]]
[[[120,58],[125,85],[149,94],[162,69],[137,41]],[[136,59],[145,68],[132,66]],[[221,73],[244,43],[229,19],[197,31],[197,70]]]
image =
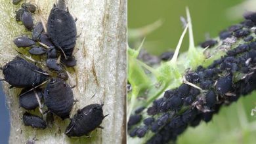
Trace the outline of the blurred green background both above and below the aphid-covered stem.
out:
[[[129,46],[137,47],[131,31],[161,19],[163,24],[146,36],[143,48],[155,55],[175,48],[182,33],[180,16],[186,15],[186,6],[190,9],[194,41],[198,45],[205,40],[205,33],[209,33],[210,37],[217,37],[226,27],[241,22],[243,12],[234,19],[227,15],[227,10],[242,2],[244,1],[128,0]],[[182,43],[181,51],[187,50],[187,46],[188,35]],[[197,128],[186,130],[179,137],[178,143],[256,143],[256,117],[250,115],[255,106],[256,93],[240,98],[237,103],[223,107],[211,122],[202,122]]]

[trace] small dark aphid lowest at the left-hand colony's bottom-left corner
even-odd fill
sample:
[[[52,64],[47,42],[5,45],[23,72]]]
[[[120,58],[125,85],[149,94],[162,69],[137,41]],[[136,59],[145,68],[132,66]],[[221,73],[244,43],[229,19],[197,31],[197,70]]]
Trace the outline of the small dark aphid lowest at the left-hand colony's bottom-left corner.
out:
[[[43,118],[38,117],[37,115],[32,115],[28,112],[24,113],[22,120],[25,124],[25,126],[32,126],[32,128],[46,128],[46,122],[43,120]]]

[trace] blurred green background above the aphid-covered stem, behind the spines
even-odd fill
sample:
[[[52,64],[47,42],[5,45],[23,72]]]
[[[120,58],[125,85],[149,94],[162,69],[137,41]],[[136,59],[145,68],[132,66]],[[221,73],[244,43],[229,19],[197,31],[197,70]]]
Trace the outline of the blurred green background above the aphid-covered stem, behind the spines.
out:
[[[205,33],[217,37],[219,32],[242,20],[230,20],[226,10],[242,0],[128,0],[128,27],[137,28],[163,20],[161,27],[147,35],[145,47],[148,52],[160,54],[168,48],[175,48],[182,33],[180,16],[186,16],[186,6],[190,9],[197,45],[205,40]],[[128,31],[129,33],[129,31]],[[184,39],[182,51],[188,46]]]

